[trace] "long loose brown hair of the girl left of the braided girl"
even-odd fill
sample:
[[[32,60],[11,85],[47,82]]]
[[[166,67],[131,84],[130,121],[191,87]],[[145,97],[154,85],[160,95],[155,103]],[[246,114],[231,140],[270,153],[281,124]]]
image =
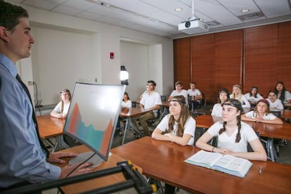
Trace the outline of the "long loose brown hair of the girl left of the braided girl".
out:
[[[181,137],[183,136],[184,127],[187,122],[187,119],[190,117],[190,112],[188,110],[188,107],[186,106],[186,100],[183,95],[174,96],[172,98],[172,101],[178,102],[181,105],[179,121],[176,121],[178,122],[178,127],[176,129],[177,130],[176,136]],[[172,131],[174,131],[174,124],[175,124],[175,119],[174,119],[174,116],[171,115],[169,117],[169,129],[166,131],[166,133],[171,133]]]

